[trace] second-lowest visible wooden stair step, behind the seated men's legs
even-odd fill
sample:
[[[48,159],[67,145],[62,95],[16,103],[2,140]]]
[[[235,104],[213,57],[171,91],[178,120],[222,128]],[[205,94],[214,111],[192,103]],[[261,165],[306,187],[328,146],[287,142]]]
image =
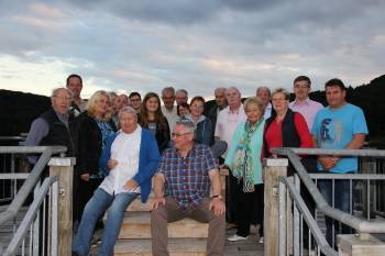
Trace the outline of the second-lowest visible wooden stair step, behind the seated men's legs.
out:
[[[151,213],[125,212],[119,238],[151,238]],[[183,219],[168,223],[168,237],[198,237],[208,236],[209,224],[200,223],[191,219]]]

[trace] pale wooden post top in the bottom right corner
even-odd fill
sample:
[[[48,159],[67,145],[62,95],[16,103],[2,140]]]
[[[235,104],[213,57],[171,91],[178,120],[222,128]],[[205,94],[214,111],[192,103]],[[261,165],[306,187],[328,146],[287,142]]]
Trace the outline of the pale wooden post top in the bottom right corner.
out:
[[[338,253],[340,256],[383,256],[385,243],[371,234],[338,235]]]

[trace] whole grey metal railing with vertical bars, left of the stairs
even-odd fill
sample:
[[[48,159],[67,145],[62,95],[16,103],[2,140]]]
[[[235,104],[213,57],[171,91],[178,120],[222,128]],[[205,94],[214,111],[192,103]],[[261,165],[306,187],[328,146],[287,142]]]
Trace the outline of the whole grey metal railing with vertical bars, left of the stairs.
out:
[[[55,238],[55,230],[53,230],[57,223],[55,221],[55,218],[57,219],[57,178],[46,178],[42,186],[40,182],[51,157],[64,152],[66,152],[66,147],[63,146],[0,146],[0,156],[22,155],[25,158],[28,155],[40,154],[30,174],[19,172],[16,168],[13,168],[18,166],[16,157],[11,158],[9,165],[11,168],[0,174],[0,181],[14,183],[12,188],[14,191],[13,200],[10,204],[3,205],[2,208],[7,210],[0,213],[0,229],[8,229],[12,237],[2,238],[8,247],[3,252],[4,244],[0,244],[0,255],[57,255],[53,254],[56,246],[51,246],[57,240]],[[18,183],[18,180],[23,181],[22,186]],[[20,215],[25,209],[23,205],[29,204],[26,201],[29,197],[32,197],[33,201],[28,205],[29,210],[20,222]],[[45,232],[50,232],[50,234],[45,234]],[[25,249],[26,247],[28,249]]]

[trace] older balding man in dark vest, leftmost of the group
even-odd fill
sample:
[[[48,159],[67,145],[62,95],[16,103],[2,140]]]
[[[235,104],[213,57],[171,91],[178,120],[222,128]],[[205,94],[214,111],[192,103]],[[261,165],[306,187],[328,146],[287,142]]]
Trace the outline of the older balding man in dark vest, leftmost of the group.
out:
[[[66,88],[53,90],[51,96],[52,108],[33,121],[25,141],[26,146],[66,146],[67,155],[74,156],[74,146],[69,133],[72,116],[68,113],[72,99],[73,94]]]

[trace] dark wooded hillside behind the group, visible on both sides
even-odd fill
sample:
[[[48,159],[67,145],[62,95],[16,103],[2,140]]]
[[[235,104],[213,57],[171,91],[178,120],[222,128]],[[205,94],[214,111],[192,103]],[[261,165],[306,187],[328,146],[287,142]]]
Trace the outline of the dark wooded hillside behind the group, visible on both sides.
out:
[[[294,98],[294,96],[293,96]],[[310,98],[326,105],[324,91]],[[385,138],[385,75],[367,85],[348,88],[348,101],[361,107],[367,120],[370,136]],[[208,101],[211,105],[215,101]],[[20,91],[0,90],[0,136],[19,135],[30,130],[31,122],[51,105],[50,98]]]

